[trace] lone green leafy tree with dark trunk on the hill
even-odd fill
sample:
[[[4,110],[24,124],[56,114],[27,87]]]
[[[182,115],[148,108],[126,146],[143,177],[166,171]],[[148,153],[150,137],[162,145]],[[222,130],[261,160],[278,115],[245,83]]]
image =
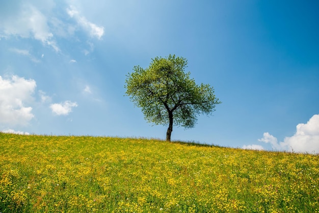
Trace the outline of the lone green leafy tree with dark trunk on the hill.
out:
[[[209,84],[196,85],[184,73],[187,60],[169,55],[154,58],[149,67],[135,66],[125,80],[126,94],[142,108],[148,122],[168,125],[166,140],[171,141],[173,121],[185,128],[195,126],[199,113],[211,114],[220,104]]]

